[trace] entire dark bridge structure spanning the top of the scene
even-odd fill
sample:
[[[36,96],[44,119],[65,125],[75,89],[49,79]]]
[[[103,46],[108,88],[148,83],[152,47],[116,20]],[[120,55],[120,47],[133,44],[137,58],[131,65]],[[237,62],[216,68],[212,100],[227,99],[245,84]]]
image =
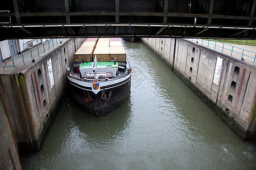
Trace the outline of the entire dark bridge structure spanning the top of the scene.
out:
[[[43,37],[255,38],[256,0],[13,0],[0,40]]]

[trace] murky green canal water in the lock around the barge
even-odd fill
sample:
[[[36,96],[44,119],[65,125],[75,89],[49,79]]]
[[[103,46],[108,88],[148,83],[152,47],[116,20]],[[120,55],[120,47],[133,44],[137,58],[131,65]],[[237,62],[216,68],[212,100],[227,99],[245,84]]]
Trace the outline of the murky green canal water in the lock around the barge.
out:
[[[93,117],[69,98],[42,150],[23,169],[255,169],[256,143],[242,141],[141,42],[122,41],[131,94]]]

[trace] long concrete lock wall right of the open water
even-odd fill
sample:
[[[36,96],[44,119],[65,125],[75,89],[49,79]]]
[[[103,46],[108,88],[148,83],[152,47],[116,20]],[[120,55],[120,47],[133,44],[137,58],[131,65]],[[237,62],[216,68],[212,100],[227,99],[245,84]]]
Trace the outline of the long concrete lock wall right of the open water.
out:
[[[255,66],[184,39],[142,42],[243,140],[255,139]]]

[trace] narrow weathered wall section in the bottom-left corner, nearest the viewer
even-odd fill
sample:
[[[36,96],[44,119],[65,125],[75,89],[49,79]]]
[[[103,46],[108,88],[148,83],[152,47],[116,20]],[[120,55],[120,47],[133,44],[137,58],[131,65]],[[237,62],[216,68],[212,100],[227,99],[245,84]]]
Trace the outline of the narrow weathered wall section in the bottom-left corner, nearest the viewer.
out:
[[[2,94],[2,90],[0,89]],[[1,103],[4,103],[2,96]],[[4,105],[0,104],[0,169],[22,169],[19,162],[19,154],[16,148],[13,132],[5,114]]]

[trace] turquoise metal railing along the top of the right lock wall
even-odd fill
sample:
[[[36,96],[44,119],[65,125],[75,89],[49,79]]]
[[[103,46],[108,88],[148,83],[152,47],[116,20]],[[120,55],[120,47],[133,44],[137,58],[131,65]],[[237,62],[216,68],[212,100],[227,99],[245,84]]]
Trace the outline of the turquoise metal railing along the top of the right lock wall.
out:
[[[189,40],[189,39],[188,39]],[[236,54],[241,54],[241,60],[243,61],[243,57],[249,57],[254,59],[254,64],[255,64],[255,60],[256,60],[256,52],[251,52],[250,50],[246,50],[246,49],[242,49],[239,48],[237,46],[233,46],[230,44],[226,44],[223,42],[218,42],[215,40],[204,40],[204,39],[190,39],[192,41],[196,41],[198,44],[202,44],[205,45],[207,44],[207,46],[209,47],[209,45],[214,45],[214,50],[216,50],[216,48],[220,48],[220,50],[222,50],[221,52],[223,53],[224,50],[228,50],[230,52],[230,56],[232,56],[232,54],[236,53]]]

